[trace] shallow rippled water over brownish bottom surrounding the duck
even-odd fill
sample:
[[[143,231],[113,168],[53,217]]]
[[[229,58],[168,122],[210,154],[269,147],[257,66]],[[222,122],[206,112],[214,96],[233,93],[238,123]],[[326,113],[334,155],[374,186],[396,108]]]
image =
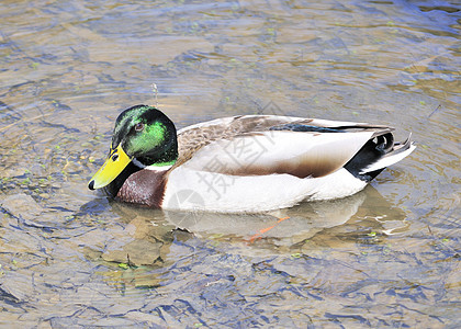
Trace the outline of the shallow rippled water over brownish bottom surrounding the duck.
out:
[[[2,1],[0,325],[459,327],[460,10]],[[151,83],[178,127],[286,114],[418,148],[357,195],[277,214],[113,203],[87,182]]]

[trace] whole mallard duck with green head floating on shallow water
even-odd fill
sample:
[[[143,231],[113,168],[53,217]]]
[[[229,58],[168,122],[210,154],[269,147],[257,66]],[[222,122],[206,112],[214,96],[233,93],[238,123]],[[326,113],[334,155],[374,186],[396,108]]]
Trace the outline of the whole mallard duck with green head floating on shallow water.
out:
[[[89,189],[164,209],[262,212],[345,197],[408,156],[408,137],[353,122],[237,115],[176,131],[154,106],[115,122],[112,146]]]

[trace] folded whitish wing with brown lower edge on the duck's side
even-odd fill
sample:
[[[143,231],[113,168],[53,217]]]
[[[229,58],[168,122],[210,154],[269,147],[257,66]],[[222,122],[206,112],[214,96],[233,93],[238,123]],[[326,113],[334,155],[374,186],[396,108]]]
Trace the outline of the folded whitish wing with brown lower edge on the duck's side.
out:
[[[243,134],[209,143],[183,167],[233,175],[289,173],[299,178],[317,178],[342,168],[372,135],[373,131]]]

